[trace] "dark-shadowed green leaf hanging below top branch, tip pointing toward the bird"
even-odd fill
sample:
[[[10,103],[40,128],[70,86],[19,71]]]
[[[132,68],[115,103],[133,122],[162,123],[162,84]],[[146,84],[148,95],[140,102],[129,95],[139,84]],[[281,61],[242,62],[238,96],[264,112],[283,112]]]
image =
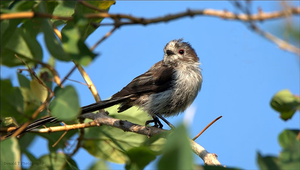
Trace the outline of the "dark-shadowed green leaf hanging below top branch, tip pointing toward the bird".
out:
[[[73,22],[68,22],[66,26],[61,30],[62,43],[64,45],[64,51],[67,52],[70,57],[82,64],[87,65],[96,56],[92,53],[81,39],[79,29]]]

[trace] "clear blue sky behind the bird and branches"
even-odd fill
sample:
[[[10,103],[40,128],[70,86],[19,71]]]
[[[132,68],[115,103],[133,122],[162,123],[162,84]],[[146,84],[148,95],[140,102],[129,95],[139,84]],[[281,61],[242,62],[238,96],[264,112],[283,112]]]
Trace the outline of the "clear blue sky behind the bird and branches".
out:
[[[299,1],[289,4],[300,5]],[[265,12],[281,9],[279,1],[254,1],[252,6],[253,13],[257,12],[258,6]],[[188,8],[239,12],[228,1],[117,1],[110,12],[158,17]],[[292,20],[299,26],[299,17],[292,17]],[[109,19],[102,21],[109,22]],[[280,32],[285,23],[284,19],[276,19],[258,25],[263,30],[283,37]],[[110,26],[98,28],[88,37],[87,45],[94,45],[110,29]],[[208,128],[196,142],[208,152],[216,153],[223,165],[258,169],[256,152],[278,155],[281,150],[279,133],[286,128],[299,129],[300,118],[297,112],[291,120],[282,121],[279,114],[270,107],[270,100],[282,89],[300,94],[299,57],[279,49],[240,21],[194,16],[147,26],[122,26],[95,49],[94,52],[100,55],[85,70],[100,97],[109,98],[133,78],[162,60],[164,45],[179,38],[184,38],[195,48],[203,69],[202,89],[190,109],[190,112],[195,110],[193,121],[188,125],[190,138],[222,115],[223,118]],[[43,35],[38,36],[38,41],[44,44]],[[49,53],[44,52],[45,61],[48,57]],[[72,63],[66,62],[57,62],[56,65],[61,77],[72,67]],[[1,79],[4,78],[13,79],[13,84],[18,85],[16,68],[1,66]],[[83,82],[78,71],[70,79]],[[70,81],[66,85],[76,87],[81,106],[95,102],[86,86]],[[188,117],[185,115],[184,113],[168,121],[175,126],[179,125]],[[45,147],[45,141],[38,138],[30,150],[39,157],[48,152]],[[84,150],[79,150],[73,159],[78,163],[79,169],[88,168],[95,161]],[[196,156],[195,162],[203,164]],[[153,169],[155,165],[153,162],[146,169]],[[112,169],[124,168],[124,165],[113,163],[109,166]]]

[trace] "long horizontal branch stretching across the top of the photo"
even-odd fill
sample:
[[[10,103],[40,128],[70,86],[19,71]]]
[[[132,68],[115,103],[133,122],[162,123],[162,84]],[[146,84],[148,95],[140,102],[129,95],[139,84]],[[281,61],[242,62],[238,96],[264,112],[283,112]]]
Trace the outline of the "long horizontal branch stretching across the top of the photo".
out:
[[[87,19],[92,18],[125,18],[131,20],[130,22],[121,22],[120,25],[126,25],[126,24],[149,24],[149,23],[158,23],[158,22],[167,22],[170,20],[174,20],[180,17],[185,16],[191,16],[194,15],[206,15],[211,17],[220,17],[223,19],[229,19],[229,20],[242,20],[242,21],[249,21],[249,20],[270,20],[280,17],[285,17],[286,14],[300,14],[300,7],[291,7],[288,9],[289,12],[287,13],[286,10],[282,11],[273,11],[273,12],[259,12],[258,14],[253,14],[248,17],[247,14],[234,14],[233,12],[225,11],[225,10],[214,10],[214,9],[204,9],[204,10],[187,10],[185,12],[181,12],[178,14],[170,14],[163,17],[157,17],[152,19],[146,19],[143,17],[133,17],[131,15],[126,14],[109,14],[107,12],[100,12],[100,13],[91,13],[91,14],[85,14],[84,17]],[[16,13],[6,13],[0,15],[0,20],[10,20],[10,19],[19,19],[19,18],[34,18],[34,17],[40,17],[40,18],[52,18],[52,19],[58,19],[58,20],[73,20],[73,17],[62,17],[62,16],[55,16],[52,14],[46,14],[46,13],[35,13],[33,11],[28,12],[16,12]],[[104,24],[101,24],[104,25]],[[110,24],[114,25],[114,24]]]

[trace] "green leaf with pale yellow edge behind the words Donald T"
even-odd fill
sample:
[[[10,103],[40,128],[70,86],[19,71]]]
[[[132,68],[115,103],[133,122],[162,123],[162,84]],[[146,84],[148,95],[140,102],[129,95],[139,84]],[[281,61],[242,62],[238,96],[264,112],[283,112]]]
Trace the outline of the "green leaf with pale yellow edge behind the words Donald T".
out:
[[[20,169],[17,162],[21,161],[21,153],[18,140],[15,137],[1,141],[0,153],[1,169]]]

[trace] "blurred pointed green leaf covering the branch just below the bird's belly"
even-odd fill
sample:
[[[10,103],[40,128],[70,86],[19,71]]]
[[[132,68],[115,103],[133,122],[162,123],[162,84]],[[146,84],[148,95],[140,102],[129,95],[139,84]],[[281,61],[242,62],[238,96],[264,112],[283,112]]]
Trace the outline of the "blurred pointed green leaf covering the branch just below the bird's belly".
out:
[[[183,125],[176,128],[167,138],[158,169],[192,169],[193,156]]]

